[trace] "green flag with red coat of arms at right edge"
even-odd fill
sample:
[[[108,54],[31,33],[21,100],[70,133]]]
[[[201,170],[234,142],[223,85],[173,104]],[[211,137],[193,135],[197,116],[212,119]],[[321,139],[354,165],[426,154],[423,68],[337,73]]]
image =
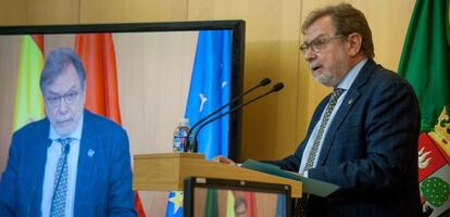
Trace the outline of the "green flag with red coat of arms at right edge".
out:
[[[399,74],[412,85],[421,106],[418,175],[426,216],[450,210],[449,10],[449,0],[415,2],[399,64]]]

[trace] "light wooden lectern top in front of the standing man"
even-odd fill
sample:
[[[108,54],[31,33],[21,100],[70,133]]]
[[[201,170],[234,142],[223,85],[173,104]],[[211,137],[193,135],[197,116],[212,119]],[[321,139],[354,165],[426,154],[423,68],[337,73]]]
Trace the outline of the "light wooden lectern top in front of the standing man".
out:
[[[208,177],[289,184],[292,197],[301,197],[302,193],[300,181],[205,161],[204,154],[139,154],[134,156],[133,171],[133,189],[137,191],[183,191],[186,177]]]

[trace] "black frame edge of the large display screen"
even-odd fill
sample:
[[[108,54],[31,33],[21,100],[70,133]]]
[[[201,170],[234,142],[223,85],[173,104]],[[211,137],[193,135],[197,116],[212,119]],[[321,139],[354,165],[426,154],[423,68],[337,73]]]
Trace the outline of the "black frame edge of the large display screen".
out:
[[[121,24],[72,24],[72,25],[34,25],[3,26],[0,35],[39,35],[39,34],[89,34],[89,33],[145,33],[145,31],[187,31],[187,30],[221,30],[233,31],[232,39],[232,90],[230,99],[242,93],[243,58],[245,58],[245,21],[195,21],[195,22],[161,22],[161,23],[121,23]],[[240,104],[238,100],[230,107]],[[237,161],[241,144],[241,112],[229,115],[228,157]]]

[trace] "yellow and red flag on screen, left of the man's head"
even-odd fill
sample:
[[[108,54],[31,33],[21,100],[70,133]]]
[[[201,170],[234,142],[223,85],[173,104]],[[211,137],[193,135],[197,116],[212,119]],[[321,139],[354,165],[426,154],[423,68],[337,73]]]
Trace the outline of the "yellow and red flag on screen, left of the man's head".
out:
[[[43,36],[23,36],[15,93],[13,130],[43,118],[43,101],[39,88],[43,68]]]

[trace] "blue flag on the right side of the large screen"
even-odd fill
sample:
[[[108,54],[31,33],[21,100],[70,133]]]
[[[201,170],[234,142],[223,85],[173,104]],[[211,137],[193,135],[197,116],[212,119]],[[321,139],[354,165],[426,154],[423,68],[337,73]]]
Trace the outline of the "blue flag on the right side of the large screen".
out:
[[[230,30],[200,31],[185,116],[191,125],[228,103],[232,66]],[[199,133],[198,151],[210,159],[228,156],[229,116],[226,115]]]

